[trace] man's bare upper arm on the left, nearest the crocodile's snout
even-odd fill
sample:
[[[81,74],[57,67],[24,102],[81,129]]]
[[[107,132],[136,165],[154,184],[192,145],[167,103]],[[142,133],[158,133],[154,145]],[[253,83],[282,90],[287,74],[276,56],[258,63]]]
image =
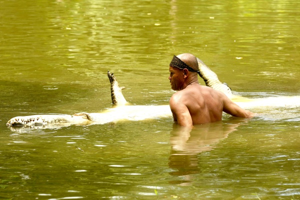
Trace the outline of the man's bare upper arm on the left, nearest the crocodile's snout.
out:
[[[174,96],[170,99],[170,108],[174,121],[177,121],[182,126],[192,126],[192,119],[188,108]]]

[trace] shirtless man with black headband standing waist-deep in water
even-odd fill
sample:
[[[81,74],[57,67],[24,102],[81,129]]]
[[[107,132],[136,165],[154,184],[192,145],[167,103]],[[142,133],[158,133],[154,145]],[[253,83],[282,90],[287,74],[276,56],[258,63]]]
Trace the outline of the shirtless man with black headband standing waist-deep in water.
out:
[[[222,120],[222,111],[237,117],[253,117],[232,102],[221,91],[198,83],[198,62],[194,55],[183,53],[173,57],[169,64],[170,84],[174,93],[169,101],[174,122],[181,126]]]

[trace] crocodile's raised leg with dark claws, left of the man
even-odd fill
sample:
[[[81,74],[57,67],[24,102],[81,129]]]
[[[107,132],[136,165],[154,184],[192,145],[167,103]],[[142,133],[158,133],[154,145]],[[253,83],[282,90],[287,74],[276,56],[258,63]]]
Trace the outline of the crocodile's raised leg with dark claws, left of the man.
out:
[[[110,81],[110,91],[111,91],[111,100],[112,103],[115,105],[124,105],[126,104],[126,99],[122,94],[122,89],[125,87],[119,87],[118,82],[115,79],[113,73],[110,73],[109,70],[107,71],[107,76]]]

